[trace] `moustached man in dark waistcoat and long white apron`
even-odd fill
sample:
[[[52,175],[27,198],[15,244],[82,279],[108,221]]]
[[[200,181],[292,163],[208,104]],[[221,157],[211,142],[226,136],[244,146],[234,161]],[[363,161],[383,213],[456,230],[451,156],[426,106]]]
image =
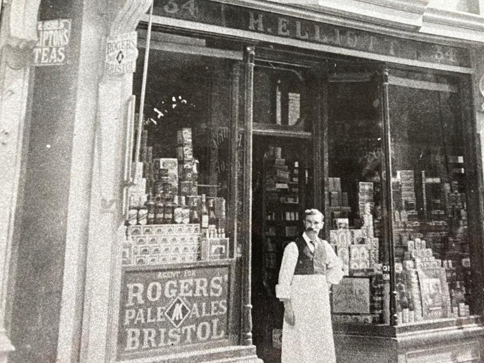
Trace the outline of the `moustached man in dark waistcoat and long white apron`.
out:
[[[276,285],[284,302],[282,363],[335,363],[328,289],[343,278],[343,264],[318,237],[323,214],[305,214],[305,231],[286,246]]]

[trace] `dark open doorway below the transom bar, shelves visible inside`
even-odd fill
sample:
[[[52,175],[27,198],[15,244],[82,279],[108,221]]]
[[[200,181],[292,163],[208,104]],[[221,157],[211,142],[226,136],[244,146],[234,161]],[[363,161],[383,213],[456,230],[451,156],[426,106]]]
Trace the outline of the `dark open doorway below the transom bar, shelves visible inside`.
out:
[[[266,363],[280,361],[284,306],[275,285],[285,246],[302,233],[312,207],[312,140],[254,136],[252,210],[253,339]]]

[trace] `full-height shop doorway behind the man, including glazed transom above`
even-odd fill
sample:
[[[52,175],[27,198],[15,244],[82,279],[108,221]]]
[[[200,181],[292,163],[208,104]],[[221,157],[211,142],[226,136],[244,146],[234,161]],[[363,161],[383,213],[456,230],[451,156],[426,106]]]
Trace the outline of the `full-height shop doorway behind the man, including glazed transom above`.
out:
[[[284,306],[275,286],[283,251],[302,232],[304,210],[315,207],[316,80],[308,65],[260,61],[254,69],[253,341],[265,363],[280,362]]]

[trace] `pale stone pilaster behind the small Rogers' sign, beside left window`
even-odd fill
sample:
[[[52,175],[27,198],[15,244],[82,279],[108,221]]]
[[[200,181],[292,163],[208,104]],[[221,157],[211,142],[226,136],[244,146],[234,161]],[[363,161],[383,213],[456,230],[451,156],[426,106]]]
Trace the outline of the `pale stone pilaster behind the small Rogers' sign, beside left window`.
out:
[[[135,32],[151,0],[101,2],[107,19],[105,35]],[[106,53],[106,43],[103,53]],[[142,56],[142,55],[141,55]],[[104,70],[98,88],[94,164],[90,204],[81,362],[113,359],[120,286],[120,246],[125,237],[124,205],[129,179],[129,138],[133,126],[133,73],[109,75]]]

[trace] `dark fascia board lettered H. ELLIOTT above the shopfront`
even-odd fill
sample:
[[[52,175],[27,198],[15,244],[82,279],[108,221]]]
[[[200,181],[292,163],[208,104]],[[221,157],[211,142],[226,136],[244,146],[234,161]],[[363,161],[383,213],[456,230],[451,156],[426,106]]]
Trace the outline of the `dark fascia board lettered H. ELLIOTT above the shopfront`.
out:
[[[155,0],[153,14],[395,58],[470,67],[470,56],[465,48],[387,36],[210,0]]]

